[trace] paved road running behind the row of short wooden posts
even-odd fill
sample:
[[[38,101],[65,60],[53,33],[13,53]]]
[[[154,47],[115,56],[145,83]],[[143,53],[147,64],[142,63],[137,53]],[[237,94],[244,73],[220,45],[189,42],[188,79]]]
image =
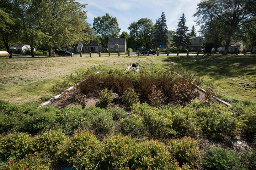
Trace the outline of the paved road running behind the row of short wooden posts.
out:
[[[176,56],[176,54],[174,53],[170,53],[169,54],[170,56]],[[186,56],[187,54],[179,54],[179,56]],[[196,56],[196,54],[189,54],[190,56]],[[199,56],[202,56],[203,54],[199,54]],[[221,55],[220,53],[212,53],[212,55]],[[239,54],[239,55],[243,55],[243,54]],[[255,54],[251,54],[251,53],[248,53],[246,55],[255,55]],[[76,57],[80,56],[80,55],[74,55]],[[96,57],[98,56],[98,54],[92,54],[92,57]],[[105,54],[102,54],[101,56],[108,56],[108,55],[105,55]],[[117,54],[112,54],[111,56],[118,56]],[[120,56],[128,56],[127,54],[120,54]],[[131,57],[135,57],[135,56],[138,56],[138,54],[130,54]],[[143,56],[143,55],[140,55],[140,56]],[[147,55],[145,55],[147,56]],[[151,56],[151,55],[150,55]],[[159,54],[159,56],[166,56],[166,54]],[[31,57],[31,55],[24,55],[24,56],[12,56],[12,58],[28,58],[28,57]],[[40,58],[40,57],[49,57],[48,55],[46,56],[35,56],[36,58]],[[59,57],[59,56],[57,56]],[[86,55],[83,55],[83,57],[89,57],[89,54],[86,54]],[[8,58],[8,57],[2,57],[2,58]]]

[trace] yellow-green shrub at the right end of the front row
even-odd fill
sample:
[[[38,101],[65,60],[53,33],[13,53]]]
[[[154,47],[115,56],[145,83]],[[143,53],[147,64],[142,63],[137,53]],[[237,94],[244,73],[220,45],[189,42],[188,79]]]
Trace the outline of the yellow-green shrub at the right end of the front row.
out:
[[[198,141],[191,137],[182,137],[181,139],[170,139],[167,142],[168,150],[171,156],[177,159],[177,162],[182,163],[195,163],[200,157],[197,145]]]

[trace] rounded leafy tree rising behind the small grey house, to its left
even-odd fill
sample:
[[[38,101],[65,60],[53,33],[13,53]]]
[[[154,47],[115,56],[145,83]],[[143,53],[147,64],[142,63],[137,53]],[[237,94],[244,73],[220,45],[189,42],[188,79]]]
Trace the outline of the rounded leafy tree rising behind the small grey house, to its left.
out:
[[[102,17],[98,16],[94,18],[93,28],[98,34],[103,46],[107,46],[109,38],[118,38],[120,28],[116,17],[110,16],[108,13]]]

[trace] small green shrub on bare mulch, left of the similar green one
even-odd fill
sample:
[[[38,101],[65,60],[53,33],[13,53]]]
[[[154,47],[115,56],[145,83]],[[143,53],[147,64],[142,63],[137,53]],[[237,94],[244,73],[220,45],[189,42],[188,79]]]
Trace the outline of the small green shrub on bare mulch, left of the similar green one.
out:
[[[96,106],[100,108],[106,108],[113,101],[113,92],[107,88],[101,90],[99,93],[99,101],[96,103]]]

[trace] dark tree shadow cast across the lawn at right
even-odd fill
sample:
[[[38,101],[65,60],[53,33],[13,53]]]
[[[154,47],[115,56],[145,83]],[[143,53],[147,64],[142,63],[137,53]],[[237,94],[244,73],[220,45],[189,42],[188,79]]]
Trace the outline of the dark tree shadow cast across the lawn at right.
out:
[[[256,75],[256,55],[170,56],[162,60],[165,66],[175,63],[199,76],[209,75],[215,80],[223,77]]]

